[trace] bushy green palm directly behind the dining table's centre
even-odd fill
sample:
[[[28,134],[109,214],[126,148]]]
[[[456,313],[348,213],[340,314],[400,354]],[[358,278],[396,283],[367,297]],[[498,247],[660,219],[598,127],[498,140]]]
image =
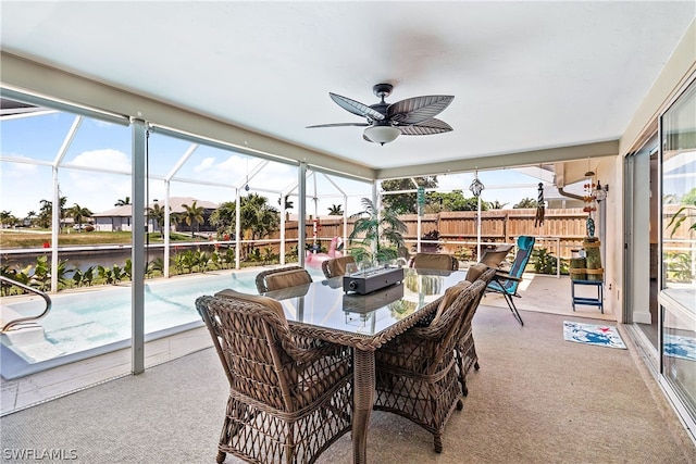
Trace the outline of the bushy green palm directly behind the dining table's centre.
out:
[[[406,224],[390,208],[385,208],[380,214],[369,198],[363,198],[360,203],[363,211],[350,216],[356,222],[348,236],[348,241],[352,243],[358,240],[358,237],[362,237],[360,239],[361,247],[351,249],[350,253],[358,262],[381,262],[397,259],[399,249],[405,246]]]

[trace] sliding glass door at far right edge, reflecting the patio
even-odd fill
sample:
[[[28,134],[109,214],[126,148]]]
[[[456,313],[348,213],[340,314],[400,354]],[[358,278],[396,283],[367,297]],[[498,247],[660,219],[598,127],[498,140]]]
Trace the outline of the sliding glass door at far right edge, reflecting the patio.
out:
[[[662,375],[696,424],[696,80],[664,112],[661,139]]]

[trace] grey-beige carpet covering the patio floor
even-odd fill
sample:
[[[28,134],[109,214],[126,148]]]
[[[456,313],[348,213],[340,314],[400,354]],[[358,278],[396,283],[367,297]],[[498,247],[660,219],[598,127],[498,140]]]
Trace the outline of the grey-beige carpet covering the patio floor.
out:
[[[444,451],[401,417],[375,412],[371,463],[696,463],[696,448],[629,350],[563,341],[568,316],[481,306],[481,371],[469,376]],[[587,321],[587,319],[584,319]],[[226,379],[212,349],[2,417],[10,453],[59,450],[75,463],[213,463]],[[319,460],[350,463],[350,436]],[[239,461],[227,457],[228,463]]]

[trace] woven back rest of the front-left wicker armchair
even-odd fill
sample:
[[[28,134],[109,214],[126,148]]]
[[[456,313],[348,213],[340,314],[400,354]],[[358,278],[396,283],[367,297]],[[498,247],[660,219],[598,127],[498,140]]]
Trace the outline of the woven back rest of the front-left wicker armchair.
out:
[[[290,411],[295,362],[286,348],[295,343],[278,308],[282,313],[281,303],[271,298],[234,291],[196,300],[231,390],[271,407]]]

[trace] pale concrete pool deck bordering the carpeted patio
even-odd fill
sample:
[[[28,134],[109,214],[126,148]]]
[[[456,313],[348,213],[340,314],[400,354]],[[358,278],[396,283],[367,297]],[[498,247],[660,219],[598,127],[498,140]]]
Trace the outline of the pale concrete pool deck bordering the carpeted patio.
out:
[[[533,311],[593,319],[617,319],[611,308],[605,308],[604,314],[597,308],[582,305],[573,312],[570,279],[566,276],[557,278],[525,274],[523,278],[520,285],[521,298],[514,300],[522,318],[525,312]],[[608,298],[607,293],[605,292],[605,299]],[[495,293],[487,293],[478,311],[485,311],[485,306],[507,308],[505,299]],[[204,327],[152,340],[146,343],[145,365],[146,368],[151,367],[211,346]],[[0,378],[0,416],[127,375],[130,375],[130,350],[123,349],[14,380]]]

